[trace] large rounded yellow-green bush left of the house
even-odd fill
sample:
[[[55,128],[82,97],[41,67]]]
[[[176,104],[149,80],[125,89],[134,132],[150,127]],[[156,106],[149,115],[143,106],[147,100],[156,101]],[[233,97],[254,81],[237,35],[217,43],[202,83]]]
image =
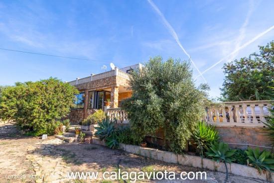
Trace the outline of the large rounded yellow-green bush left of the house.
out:
[[[70,112],[75,93],[75,87],[55,78],[15,83],[2,91],[0,118],[14,120],[33,135],[52,134],[56,121]]]

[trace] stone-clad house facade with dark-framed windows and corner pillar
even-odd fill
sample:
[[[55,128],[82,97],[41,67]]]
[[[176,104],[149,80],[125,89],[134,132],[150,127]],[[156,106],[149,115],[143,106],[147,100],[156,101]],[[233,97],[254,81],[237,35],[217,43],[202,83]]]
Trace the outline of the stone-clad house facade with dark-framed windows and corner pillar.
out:
[[[70,81],[69,84],[79,90],[69,114],[70,121],[79,123],[99,109],[113,111],[123,117],[121,102],[132,96],[128,87],[130,73],[133,70],[138,71],[141,66],[136,64],[120,69],[116,67],[111,71]],[[106,106],[107,101],[110,101],[109,107]]]

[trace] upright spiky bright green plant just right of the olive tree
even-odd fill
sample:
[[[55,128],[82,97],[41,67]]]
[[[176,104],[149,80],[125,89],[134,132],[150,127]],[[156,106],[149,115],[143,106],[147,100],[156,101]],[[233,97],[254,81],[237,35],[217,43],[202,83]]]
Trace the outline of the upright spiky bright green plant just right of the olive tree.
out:
[[[204,150],[208,150],[211,144],[218,142],[220,136],[214,127],[204,122],[199,122],[193,132],[192,138],[197,147],[200,149],[200,153],[203,157]]]

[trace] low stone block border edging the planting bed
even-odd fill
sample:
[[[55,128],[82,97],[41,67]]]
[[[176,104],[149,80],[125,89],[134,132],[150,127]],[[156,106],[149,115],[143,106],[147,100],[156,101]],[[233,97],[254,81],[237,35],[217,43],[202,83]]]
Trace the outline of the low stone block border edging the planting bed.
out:
[[[98,144],[106,146],[106,144],[99,140],[98,138],[92,138],[93,144]],[[120,149],[129,153],[140,155],[143,157],[150,158],[152,160],[160,160],[166,163],[180,164],[190,167],[197,167],[203,169],[209,169],[217,172],[226,172],[224,163],[217,163],[207,158],[201,158],[199,156],[191,155],[176,155],[175,153],[168,151],[160,151],[152,148],[141,148],[140,146],[129,145],[129,144],[119,144]],[[243,176],[248,178],[260,179],[264,181],[274,182],[274,173],[259,174],[258,170],[253,167],[248,167],[240,164],[227,164],[228,171],[230,174],[237,176]],[[267,178],[268,177],[268,178]]]

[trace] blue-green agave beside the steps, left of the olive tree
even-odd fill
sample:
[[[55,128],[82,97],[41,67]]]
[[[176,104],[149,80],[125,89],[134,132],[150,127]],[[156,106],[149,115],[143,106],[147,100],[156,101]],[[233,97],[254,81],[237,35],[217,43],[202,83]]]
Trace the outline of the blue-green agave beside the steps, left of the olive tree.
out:
[[[114,133],[114,123],[109,120],[104,120],[103,122],[98,123],[98,127],[95,127],[97,130],[95,135],[99,137],[100,140],[106,140]]]

